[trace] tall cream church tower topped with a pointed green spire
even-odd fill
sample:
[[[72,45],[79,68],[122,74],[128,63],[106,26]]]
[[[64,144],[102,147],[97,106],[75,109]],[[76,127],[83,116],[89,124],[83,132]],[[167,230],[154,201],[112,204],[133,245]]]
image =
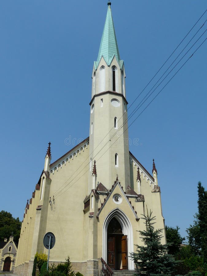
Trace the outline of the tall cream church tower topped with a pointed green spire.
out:
[[[108,2],[98,58],[92,72],[88,193],[93,189],[90,183],[94,159],[98,169],[97,183],[109,188],[118,174],[125,187],[130,185],[127,104],[125,67],[119,55],[111,3]]]

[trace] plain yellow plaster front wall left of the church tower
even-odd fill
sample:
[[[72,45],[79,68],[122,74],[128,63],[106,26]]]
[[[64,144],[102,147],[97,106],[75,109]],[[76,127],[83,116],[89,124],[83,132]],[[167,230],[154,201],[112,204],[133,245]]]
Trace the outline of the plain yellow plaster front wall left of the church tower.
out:
[[[51,209],[48,197],[45,232],[52,232],[56,237],[50,261],[64,261],[68,255],[73,262],[85,260],[87,245],[83,235],[85,233],[87,236],[85,228],[88,229],[89,225],[87,219],[84,220],[83,201],[87,195],[88,152],[89,147],[85,147],[84,151],[81,150],[77,156],[74,155],[70,162],[67,161],[62,168],[59,167],[58,171],[50,174],[52,182],[49,197],[53,200],[54,195],[55,205],[53,204]],[[74,179],[75,176],[77,177]]]

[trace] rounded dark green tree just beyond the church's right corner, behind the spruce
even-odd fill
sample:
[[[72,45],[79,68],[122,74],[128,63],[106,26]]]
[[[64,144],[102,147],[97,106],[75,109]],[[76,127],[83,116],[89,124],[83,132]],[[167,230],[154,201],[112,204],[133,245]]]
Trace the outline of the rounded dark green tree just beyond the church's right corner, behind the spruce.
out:
[[[176,228],[165,226],[165,233],[166,233],[166,240],[168,245],[168,253],[169,254],[176,254],[180,250],[181,243],[185,240],[182,238],[179,231],[179,227]]]

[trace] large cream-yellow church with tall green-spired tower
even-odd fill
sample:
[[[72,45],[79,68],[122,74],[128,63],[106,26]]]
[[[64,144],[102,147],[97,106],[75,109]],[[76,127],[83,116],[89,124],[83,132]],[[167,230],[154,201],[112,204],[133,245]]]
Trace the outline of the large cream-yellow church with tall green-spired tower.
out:
[[[43,238],[56,237],[50,263],[70,256],[73,270],[101,275],[134,270],[130,253],[141,244],[140,219],[147,209],[164,228],[160,188],[129,151],[125,67],[115,35],[110,2],[92,71],[90,136],[51,163],[48,145],[44,170],[28,202],[14,272],[31,275],[36,252],[46,252]],[[166,243],[163,233],[162,243]]]

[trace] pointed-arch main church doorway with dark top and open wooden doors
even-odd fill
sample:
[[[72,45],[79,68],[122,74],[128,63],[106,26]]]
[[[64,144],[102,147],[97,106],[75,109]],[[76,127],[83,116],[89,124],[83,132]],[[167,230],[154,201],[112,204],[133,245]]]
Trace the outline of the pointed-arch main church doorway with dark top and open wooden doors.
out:
[[[127,235],[113,217],[107,227],[107,264],[112,269],[128,269]]]

